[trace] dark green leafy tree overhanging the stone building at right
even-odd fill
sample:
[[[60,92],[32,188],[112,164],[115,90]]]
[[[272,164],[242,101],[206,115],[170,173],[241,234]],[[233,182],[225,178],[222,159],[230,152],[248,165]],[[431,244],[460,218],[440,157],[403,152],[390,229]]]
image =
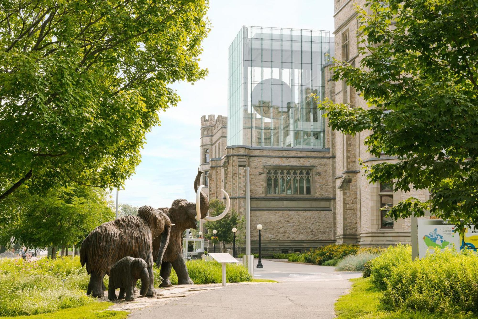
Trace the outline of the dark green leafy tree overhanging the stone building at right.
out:
[[[461,226],[478,224],[478,2],[370,1],[358,8],[357,67],[335,61],[369,103],[350,108],[326,101],[332,128],[366,131],[372,157],[396,162],[364,165],[370,182],[394,190],[428,189],[430,200],[395,205],[395,219],[424,211]]]

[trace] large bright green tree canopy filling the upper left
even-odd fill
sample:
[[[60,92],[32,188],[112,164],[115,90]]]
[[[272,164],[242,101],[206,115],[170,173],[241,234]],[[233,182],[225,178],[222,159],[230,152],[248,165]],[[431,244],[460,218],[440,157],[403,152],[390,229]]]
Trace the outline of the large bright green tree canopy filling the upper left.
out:
[[[0,1],[0,201],[121,186],[169,85],[206,76],[207,0]]]

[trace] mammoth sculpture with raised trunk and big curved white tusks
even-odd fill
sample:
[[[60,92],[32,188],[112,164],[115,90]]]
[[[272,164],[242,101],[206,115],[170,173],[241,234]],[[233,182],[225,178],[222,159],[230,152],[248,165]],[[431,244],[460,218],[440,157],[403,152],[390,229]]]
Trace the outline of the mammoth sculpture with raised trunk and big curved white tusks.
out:
[[[171,281],[169,280],[171,268],[174,268],[178,276],[179,285],[194,284],[191,278],[189,278],[186,262],[183,257],[183,232],[187,228],[196,229],[197,220],[216,221],[228,213],[230,205],[229,195],[224,190],[221,190],[224,196],[226,196],[226,209],[219,216],[206,216],[209,210],[209,200],[202,191],[202,188],[205,186],[200,185],[202,173],[203,171],[198,171],[194,181],[196,203],[188,202],[185,199],[176,199],[171,207],[160,208],[175,225],[174,228],[171,229],[171,236],[166,251],[164,252],[163,261],[157,258],[158,254],[156,253],[156,251],[159,250],[161,242],[159,239],[153,240],[153,258],[156,265],[158,267],[161,266],[160,275],[163,278],[162,286],[171,285]]]

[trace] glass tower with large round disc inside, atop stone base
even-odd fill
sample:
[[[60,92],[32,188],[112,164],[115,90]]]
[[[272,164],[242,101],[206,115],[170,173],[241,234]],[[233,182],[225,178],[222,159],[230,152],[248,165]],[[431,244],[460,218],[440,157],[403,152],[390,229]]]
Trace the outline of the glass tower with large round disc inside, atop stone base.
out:
[[[325,148],[329,31],[243,26],[229,46],[228,145]]]

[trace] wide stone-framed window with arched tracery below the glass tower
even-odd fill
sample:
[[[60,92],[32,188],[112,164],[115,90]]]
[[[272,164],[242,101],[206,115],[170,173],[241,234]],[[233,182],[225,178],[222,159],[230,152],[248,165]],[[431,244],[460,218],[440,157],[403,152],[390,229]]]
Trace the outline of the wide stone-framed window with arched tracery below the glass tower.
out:
[[[312,168],[266,168],[266,195],[312,195]]]

